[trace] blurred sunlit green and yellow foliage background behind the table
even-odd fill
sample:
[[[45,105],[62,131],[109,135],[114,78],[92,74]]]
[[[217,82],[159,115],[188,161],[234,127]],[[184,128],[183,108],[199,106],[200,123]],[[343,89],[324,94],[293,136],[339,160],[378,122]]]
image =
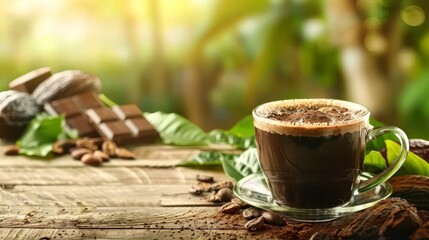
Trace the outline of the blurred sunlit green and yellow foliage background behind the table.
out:
[[[256,105],[329,97],[429,139],[426,0],[2,0],[0,88],[80,69],[143,111],[229,128]]]

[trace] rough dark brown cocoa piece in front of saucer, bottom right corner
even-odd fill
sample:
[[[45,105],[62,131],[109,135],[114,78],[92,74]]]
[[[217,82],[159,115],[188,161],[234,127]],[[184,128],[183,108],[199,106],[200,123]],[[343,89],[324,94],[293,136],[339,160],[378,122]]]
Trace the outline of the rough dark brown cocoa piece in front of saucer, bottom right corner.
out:
[[[407,239],[422,224],[417,210],[400,198],[389,198],[360,212],[339,233],[341,239]]]

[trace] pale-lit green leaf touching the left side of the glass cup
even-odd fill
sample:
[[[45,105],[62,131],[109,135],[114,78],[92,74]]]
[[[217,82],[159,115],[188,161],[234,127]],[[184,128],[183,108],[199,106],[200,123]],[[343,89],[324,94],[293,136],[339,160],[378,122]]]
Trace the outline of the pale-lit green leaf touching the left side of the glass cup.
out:
[[[249,148],[236,159],[224,159],[222,166],[225,173],[236,181],[261,171],[256,148]]]

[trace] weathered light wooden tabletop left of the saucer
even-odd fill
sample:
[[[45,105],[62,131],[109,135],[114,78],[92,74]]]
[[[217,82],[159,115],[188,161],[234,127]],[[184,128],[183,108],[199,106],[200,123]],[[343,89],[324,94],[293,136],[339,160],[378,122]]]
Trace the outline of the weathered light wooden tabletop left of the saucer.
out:
[[[248,233],[244,220],[231,221],[219,213],[219,206],[205,197],[187,193],[199,173],[228,180],[222,170],[172,167],[200,150],[132,150],[137,160],[111,160],[101,167],[70,156],[42,160],[2,155],[0,238],[264,238]]]

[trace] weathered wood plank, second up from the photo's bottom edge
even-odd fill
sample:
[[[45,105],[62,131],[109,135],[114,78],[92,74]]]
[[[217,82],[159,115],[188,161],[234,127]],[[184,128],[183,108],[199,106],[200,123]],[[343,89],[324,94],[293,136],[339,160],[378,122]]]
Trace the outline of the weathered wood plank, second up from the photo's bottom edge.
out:
[[[242,229],[218,207],[0,206],[0,227],[97,229]],[[234,218],[234,221],[231,221]],[[238,218],[238,219],[235,219]]]

